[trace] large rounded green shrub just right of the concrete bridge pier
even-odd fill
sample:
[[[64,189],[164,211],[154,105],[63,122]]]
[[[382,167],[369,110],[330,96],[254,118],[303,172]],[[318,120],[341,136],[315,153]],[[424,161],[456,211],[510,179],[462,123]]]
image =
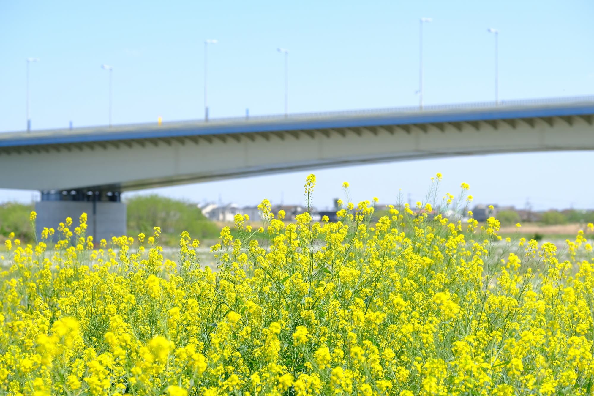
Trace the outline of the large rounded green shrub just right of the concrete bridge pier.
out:
[[[194,204],[153,194],[132,197],[127,205],[128,235],[150,235],[157,226],[163,232],[162,243],[176,245],[182,231],[195,238],[214,238],[219,234],[216,225]]]

